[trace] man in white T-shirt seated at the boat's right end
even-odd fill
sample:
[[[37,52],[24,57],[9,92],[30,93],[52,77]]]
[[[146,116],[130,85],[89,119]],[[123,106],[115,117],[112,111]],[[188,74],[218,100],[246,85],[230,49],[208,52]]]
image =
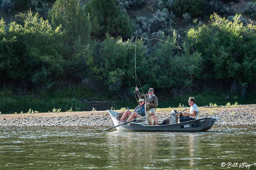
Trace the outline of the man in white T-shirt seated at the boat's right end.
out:
[[[189,120],[195,120],[200,117],[199,115],[199,110],[198,106],[195,104],[195,98],[194,97],[189,97],[188,99],[188,104],[190,106],[190,111],[188,112],[183,112],[183,113],[177,113],[176,114],[176,124],[178,123],[178,117],[180,116],[180,122],[186,122]]]

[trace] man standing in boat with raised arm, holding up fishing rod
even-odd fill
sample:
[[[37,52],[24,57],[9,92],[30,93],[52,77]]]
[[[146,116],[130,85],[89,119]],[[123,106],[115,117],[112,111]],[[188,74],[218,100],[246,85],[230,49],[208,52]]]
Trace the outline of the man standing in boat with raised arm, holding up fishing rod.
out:
[[[146,102],[146,103],[145,103],[145,105],[146,105],[146,106],[145,106],[145,114],[146,114],[146,115],[154,114],[154,115],[152,115],[152,116],[147,117],[148,124],[154,125],[154,124],[152,123],[152,118],[153,118],[153,120],[156,122],[156,125],[158,125],[157,118],[156,118],[156,115],[155,115],[155,113],[156,113],[156,107],[157,107],[157,105],[158,105],[158,99],[157,99],[157,97],[154,95],[154,89],[153,89],[153,88],[150,88],[150,89],[148,90],[148,94],[143,94],[143,95],[140,94],[140,91],[139,91],[138,87],[136,87],[135,90],[136,90],[137,95],[138,95],[140,98],[145,99],[145,102]]]

